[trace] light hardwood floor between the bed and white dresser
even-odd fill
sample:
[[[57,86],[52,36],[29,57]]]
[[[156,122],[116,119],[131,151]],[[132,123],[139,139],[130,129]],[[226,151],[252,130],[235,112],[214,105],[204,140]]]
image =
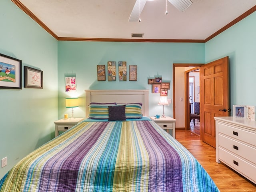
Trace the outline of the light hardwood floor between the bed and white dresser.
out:
[[[176,130],[176,140],[185,146],[208,172],[220,192],[256,192],[256,185],[228,168],[216,163],[215,148],[202,142],[190,131]],[[255,173],[256,174],[256,173]]]

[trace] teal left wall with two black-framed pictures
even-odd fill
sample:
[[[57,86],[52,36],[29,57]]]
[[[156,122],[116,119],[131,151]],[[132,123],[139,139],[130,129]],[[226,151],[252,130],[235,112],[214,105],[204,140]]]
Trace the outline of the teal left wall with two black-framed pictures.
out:
[[[10,0],[0,0],[0,53],[22,60],[22,90],[0,89],[0,178],[54,137],[57,41]],[[24,88],[23,66],[44,72],[44,89]]]

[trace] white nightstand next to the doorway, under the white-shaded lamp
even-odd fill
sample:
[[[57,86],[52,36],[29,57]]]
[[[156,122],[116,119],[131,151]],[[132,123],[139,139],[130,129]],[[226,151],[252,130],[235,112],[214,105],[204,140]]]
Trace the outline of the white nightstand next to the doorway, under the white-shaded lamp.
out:
[[[155,117],[150,117],[156,124],[158,124],[161,128],[166,130],[171,136],[175,138],[175,122],[176,119],[166,116],[166,118],[160,117],[156,119]]]

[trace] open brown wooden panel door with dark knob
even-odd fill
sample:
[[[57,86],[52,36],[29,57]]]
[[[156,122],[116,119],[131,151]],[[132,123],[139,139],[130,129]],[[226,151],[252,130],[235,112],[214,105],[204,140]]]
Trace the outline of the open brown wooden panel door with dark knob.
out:
[[[201,66],[201,140],[215,147],[215,116],[229,116],[228,56]]]

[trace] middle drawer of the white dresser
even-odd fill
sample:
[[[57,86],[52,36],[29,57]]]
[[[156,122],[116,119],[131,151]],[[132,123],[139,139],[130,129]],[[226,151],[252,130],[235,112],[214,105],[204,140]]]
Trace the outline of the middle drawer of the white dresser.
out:
[[[249,160],[250,162],[255,162],[256,158],[256,148],[252,148],[248,145],[242,144],[236,140],[230,139],[223,135],[218,135],[219,146],[229,150],[230,152]]]

